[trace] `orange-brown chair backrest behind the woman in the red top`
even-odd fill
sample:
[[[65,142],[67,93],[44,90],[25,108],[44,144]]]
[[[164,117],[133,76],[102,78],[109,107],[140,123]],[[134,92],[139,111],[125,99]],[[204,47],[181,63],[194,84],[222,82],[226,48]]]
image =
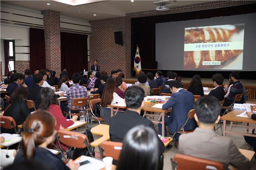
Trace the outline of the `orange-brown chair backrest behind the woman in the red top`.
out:
[[[85,148],[89,146],[88,137],[79,132],[59,130],[57,134],[60,137],[61,143],[69,147]]]

